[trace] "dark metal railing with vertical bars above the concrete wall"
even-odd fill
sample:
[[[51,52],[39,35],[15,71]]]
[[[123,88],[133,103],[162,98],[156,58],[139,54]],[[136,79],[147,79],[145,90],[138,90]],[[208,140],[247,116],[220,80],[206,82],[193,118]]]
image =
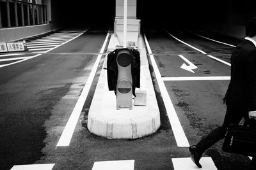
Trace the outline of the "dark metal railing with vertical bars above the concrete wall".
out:
[[[45,24],[46,5],[0,0],[0,28]]]

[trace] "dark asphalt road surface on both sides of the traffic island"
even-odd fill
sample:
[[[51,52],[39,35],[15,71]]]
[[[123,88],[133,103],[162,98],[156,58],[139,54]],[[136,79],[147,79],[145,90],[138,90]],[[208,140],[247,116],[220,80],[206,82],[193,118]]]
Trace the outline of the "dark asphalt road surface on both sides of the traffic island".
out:
[[[88,26],[66,31],[86,29]],[[53,169],[92,169],[95,162],[134,160],[134,169],[177,170],[172,159],[189,158],[188,147],[177,146],[165,99],[156,81],[154,61],[149,55],[161,113],[161,127],[155,134],[135,140],[113,140],[88,131],[86,118],[105,57],[102,55],[70,145],[56,146],[108,31],[108,24],[95,24],[50,52],[0,67],[1,169],[25,164],[54,164]],[[224,45],[193,33],[198,32],[145,29],[161,80],[190,145],[223,122],[226,107],[222,98],[229,83],[228,62],[234,48],[230,45],[236,46],[241,41],[201,34],[230,44]],[[209,148],[204,157],[211,157],[218,169],[246,169],[250,159],[222,152],[222,143]]]

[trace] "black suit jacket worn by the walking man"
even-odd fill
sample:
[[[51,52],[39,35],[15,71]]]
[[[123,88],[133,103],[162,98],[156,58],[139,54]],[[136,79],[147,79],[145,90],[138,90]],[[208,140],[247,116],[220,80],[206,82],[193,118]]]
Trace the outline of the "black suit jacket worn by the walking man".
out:
[[[231,55],[231,79],[224,97],[227,107],[256,111],[256,48],[244,39]]]

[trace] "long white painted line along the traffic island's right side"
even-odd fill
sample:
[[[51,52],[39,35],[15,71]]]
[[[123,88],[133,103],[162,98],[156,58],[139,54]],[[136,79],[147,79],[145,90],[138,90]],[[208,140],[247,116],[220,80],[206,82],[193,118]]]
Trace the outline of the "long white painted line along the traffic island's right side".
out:
[[[189,147],[188,139],[186,138],[186,135],[182,129],[179,118],[178,118],[175,108],[172,104],[172,100],[170,99],[168,91],[166,90],[166,87],[164,85],[164,81],[161,78],[161,74],[157,67],[156,60],[154,59],[154,55],[152,55],[152,51],[150,49],[150,46],[148,44],[148,40],[147,40],[145,34],[144,34],[144,38],[145,38],[145,43],[147,45],[148,53],[150,53],[150,55],[149,55],[150,60],[152,62],[152,66],[153,66],[154,72],[156,74],[157,83],[159,85],[159,89],[160,89],[161,95],[163,97],[164,106],[166,108],[166,112],[167,112],[170,124],[172,126],[172,131],[173,131],[175,140],[177,142],[177,146]]]

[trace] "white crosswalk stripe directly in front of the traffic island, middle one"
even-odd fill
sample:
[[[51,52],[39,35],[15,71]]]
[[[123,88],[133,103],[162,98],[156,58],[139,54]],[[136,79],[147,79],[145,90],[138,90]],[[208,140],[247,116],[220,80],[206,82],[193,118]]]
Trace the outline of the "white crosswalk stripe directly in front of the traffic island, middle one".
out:
[[[94,162],[92,170],[133,170],[134,160],[113,160]]]

